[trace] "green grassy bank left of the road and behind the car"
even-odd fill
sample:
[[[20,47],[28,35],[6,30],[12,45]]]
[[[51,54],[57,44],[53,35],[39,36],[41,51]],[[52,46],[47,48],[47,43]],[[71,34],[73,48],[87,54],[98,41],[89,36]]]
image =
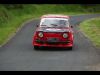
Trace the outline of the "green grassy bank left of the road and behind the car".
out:
[[[0,4],[0,46],[25,21],[40,18],[44,14],[94,14],[79,4],[23,4],[23,9],[7,10]]]

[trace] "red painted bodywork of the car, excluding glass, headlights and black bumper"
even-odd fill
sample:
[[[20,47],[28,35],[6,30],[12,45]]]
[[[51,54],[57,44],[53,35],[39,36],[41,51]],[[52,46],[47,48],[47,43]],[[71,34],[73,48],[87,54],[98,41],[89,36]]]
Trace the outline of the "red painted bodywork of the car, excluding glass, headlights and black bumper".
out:
[[[44,17],[47,17],[47,18],[50,18],[50,17],[53,17],[53,18],[67,18],[69,20],[69,17],[66,16],[66,15],[43,15],[40,18],[40,21]],[[40,22],[39,22],[39,24],[40,24]],[[70,25],[70,21],[69,21],[69,25]],[[39,25],[38,25],[38,28],[40,28]],[[43,27],[41,27],[41,28],[43,28]],[[72,47],[73,46],[74,36],[73,36],[73,31],[71,29],[71,26],[69,28],[62,28],[62,29],[69,29],[69,32],[66,32],[68,34],[68,37],[66,39],[63,38],[63,36],[62,36],[63,33],[43,33],[43,35],[44,35],[43,38],[39,38],[38,37],[39,32],[37,31],[37,29],[36,29],[36,33],[34,34],[34,38],[33,38],[33,46],[49,46],[49,47]],[[61,28],[58,28],[58,29],[61,29]],[[70,41],[70,43],[65,43],[65,44],[59,43],[58,45],[52,45],[52,44],[47,44],[47,43],[42,43],[41,44],[41,43],[37,43],[35,41],[37,38],[39,38],[39,40],[46,41],[48,37],[50,37],[50,38],[59,38],[59,41]]]

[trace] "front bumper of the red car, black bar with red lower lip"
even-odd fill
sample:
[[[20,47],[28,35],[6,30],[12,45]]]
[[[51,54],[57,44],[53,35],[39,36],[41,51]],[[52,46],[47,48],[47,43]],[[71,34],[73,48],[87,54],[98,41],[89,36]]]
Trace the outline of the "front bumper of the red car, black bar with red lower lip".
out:
[[[48,47],[72,47],[71,41],[43,41],[34,40],[33,46],[48,46]]]

